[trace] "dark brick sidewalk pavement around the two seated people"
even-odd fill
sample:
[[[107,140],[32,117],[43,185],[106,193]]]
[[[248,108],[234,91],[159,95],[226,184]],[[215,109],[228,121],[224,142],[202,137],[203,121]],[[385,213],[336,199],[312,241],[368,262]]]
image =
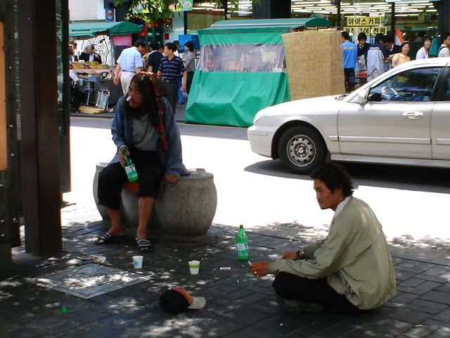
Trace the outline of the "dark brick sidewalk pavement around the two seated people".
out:
[[[105,231],[95,210],[66,206],[62,219],[60,256],[13,249],[13,276],[0,279],[1,337],[450,337],[450,258],[437,250],[392,247],[398,292],[375,311],[287,314],[276,305],[273,278],[257,278],[247,262],[237,261],[235,226],[214,224],[199,242],[155,239],[153,253],[144,254],[142,270],[135,270],[133,242],[94,245]],[[293,224],[254,227],[248,238],[252,262],[310,239]],[[189,273],[193,259],[201,261],[199,275]],[[80,276],[84,268],[93,275]],[[110,268],[113,273],[102,272]],[[84,299],[49,289],[49,280],[63,272],[65,287],[94,288],[98,295]],[[143,282],[133,284],[136,278]],[[117,280],[122,288],[101,294]],[[167,315],[158,299],[175,285],[205,296],[207,306]]]

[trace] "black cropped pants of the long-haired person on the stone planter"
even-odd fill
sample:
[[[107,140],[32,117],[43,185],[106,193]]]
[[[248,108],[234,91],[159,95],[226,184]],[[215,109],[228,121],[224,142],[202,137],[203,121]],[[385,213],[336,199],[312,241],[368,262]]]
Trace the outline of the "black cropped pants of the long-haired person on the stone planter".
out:
[[[155,151],[130,149],[131,161],[139,175],[139,197],[157,198],[160,192],[164,168]],[[98,204],[120,210],[122,185],[128,177],[119,162],[110,163],[98,174]]]

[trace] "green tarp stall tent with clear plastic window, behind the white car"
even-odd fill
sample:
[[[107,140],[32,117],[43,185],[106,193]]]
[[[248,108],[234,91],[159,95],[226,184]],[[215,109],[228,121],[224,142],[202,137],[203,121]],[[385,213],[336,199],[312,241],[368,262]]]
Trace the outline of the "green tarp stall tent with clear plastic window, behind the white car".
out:
[[[322,18],[224,20],[199,30],[186,123],[248,127],[257,111],[289,101],[281,35],[330,25]]]

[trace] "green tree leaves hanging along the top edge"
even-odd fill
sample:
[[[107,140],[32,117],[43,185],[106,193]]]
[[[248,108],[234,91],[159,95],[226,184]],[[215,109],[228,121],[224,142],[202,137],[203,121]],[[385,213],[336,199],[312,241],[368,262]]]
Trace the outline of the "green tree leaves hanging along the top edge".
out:
[[[217,8],[224,8],[226,0],[212,0]],[[194,0],[194,3],[205,2]],[[229,10],[238,9],[239,0],[229,0],[231,6]],[[253,4],[260,4],[261,0],[252,0]],[[169,6],[174,4],[174,0],[115,0],[114,6],[129,4],[127,20],[139,18],[145,23],[156,23],[159,19],[172,18]]]

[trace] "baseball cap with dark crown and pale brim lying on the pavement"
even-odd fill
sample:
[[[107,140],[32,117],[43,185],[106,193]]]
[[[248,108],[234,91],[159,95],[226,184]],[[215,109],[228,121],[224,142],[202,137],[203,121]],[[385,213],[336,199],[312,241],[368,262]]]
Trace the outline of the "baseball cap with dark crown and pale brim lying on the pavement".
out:
[[[181,313],[187,309],[204,308],[206,299],[202,296],[191,296],[184,287],[172,287],[160,296],[160,306],[167,313]]]

